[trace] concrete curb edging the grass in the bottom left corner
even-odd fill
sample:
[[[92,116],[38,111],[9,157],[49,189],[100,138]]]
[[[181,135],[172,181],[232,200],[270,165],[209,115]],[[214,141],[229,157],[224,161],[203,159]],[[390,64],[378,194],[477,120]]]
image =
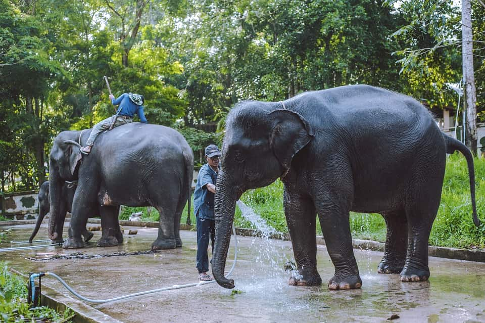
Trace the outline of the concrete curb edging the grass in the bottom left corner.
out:
[[[15,269],[10,268],[12,272],[25,277],[27,280],[29,276],[21,273]],[[67,308],[74,311],[73,323],[123,323],[77,299],[66,297],[59,294],[55,290],[49,288],[49,283],[42,281],[42,294],[40,304],[49,308],[55,309],[59,313],[63,313]]]

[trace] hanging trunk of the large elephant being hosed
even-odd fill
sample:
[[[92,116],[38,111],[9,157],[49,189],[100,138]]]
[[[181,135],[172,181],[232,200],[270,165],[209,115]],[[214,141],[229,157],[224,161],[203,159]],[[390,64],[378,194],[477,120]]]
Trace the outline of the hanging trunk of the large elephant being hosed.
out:
[[[224,288],[234,288],[234,281],[225,278],[224,268],[231,239],[236,199],[234,187],[222,170],[219,171],[214,202],[216,235],[212,255],[212,274],[217,283]]]

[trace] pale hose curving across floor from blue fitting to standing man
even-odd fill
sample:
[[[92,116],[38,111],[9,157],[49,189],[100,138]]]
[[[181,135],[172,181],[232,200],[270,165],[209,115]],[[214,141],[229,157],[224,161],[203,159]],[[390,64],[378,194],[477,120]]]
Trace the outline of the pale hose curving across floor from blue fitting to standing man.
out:
[[[233,233],[233,236],[234,236],[234,262],[232,263],[232,267],[229,270],[229,272],[227,273],[226,277],[229,277],[231,275],[232,271],[234,270],[234,267],[236,266],[236,260],[237,260],[237,237],[236,237],[236,229],[235,229],[234,225],[232,226],[232,233]],[[185,284],[185,285],[173,285],[171,287],[159,288],[159,289],[154,289],[154,290],[151,290],[151,291],[138,292],[138,293],[128,294],[128,295],[124,295],[124,296],[120,296],[120,297],[98,300],[98,299],[86,298],[86,297],[79,295],[69,285],[67,285],[67,283],[64,282],[57,274],[55,274],[53,272],[43,272],[43,274],[46,275],[46,276],[47,275],[53,276],[55,279],[57,279],[59,282],[61,282],[61,284],[64,285],[64,287],[66,287],[67,290],[70,291],[72,294],[74,294],[74,296],[76,296],[77,298],[80,298],[80,299],[82,299],[86,302],[89,302],[89,303],[98,303],[98,304],[99,303],[114,302],[114,301],[118,301],[120,299],[125,299],[125,298],[140,296],[140,295],[147,295],[147,294],[152,294],[152,293],[169,291],[169,290],[172,290],[172,289],[181,289],[181,288],[186,288],[186,287],[201,286],[201,285],[215,283],[215,280],[212,280],[212,281],[201,281],[199,283],[191,283],[191,284]]]

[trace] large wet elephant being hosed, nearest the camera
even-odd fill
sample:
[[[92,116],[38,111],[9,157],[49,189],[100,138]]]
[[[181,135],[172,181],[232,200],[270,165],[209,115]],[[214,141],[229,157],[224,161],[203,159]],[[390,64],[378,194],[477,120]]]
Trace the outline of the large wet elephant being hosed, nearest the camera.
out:
[[[440,205],[446,154],[468,162],[473,220],[474,169],[470,151],[444,135],[416,100],[367,86],[304,93],[284,102],[244,102],[226,121],[215,195],[212,272],[224,277],[235,201],[278,177],[298,273],[290,285],[321,284],[316,264],[316,214],[335,272],[331,290],[360,288],[349,211],[380,213],[387,225],[379,272],[401,281],[427,280],[428,238]]]

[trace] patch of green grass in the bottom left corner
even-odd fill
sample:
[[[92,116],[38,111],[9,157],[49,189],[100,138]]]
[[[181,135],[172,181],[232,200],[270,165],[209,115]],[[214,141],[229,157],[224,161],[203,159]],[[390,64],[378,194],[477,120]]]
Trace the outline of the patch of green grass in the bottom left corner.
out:
[[[11,273],[0,261],[0,321],[1,322],[72,322],[73,312],[60,314],[49,307],[29,309],[26,282]]]

